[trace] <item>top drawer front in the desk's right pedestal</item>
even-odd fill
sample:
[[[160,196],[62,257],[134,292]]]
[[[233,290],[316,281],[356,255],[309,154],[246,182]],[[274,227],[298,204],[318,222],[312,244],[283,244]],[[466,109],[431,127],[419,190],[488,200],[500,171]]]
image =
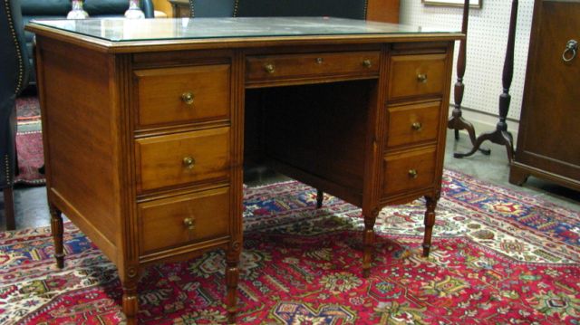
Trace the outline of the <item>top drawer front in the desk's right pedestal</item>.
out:
[[[389,99],[441,95],[446,59],[446,54],[392,56]]]

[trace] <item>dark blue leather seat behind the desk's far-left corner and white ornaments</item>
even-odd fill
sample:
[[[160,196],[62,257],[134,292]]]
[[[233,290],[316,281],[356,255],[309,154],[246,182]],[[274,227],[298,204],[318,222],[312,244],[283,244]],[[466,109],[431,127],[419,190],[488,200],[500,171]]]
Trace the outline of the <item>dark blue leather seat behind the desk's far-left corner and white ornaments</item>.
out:
[[[71,11],[71,0],[21,0],[23,23],[33,19],[63,19]],[[85,0],[84,10],[90,17],[121,16],[129,8],[129,0]],[[153,18],[152,0],[140,0],[146,18]],[[29,65],[33,62],[33,33],[25,32]],[[34,69],[30,69],[30,83],[36,83]]]

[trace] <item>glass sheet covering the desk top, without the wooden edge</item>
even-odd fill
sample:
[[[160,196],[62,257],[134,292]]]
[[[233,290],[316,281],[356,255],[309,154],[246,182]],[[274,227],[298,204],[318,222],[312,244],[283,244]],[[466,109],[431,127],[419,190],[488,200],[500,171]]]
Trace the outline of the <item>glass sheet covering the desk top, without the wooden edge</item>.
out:
[[[313,35],[460,33],[441,27],[385,24],[333,17],[123,18],[34,20],[34,24],[113,43]]]

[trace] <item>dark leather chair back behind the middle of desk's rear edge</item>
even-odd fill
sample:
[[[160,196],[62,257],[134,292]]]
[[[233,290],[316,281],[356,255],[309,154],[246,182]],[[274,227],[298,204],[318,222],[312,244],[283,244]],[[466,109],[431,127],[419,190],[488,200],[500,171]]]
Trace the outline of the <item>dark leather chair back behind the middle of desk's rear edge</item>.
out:
[[[192,17],[333,16],[366,19],[368,0],[189,0]]]

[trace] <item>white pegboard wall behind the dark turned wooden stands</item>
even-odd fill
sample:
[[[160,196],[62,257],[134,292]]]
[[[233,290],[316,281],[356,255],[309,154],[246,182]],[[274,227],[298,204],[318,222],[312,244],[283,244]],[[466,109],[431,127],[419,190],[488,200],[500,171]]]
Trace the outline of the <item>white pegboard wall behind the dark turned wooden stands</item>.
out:
[[[511,11],[511,0],[482,0],[481,9],[469,10],[468,57],[465,73],[465,93],[462,106],[481,112],[498,114],[498,98],[502,92],[502,71],[507,46],[507,29]],[[508,118],[519,119],[526,76],[527,49],[534,0],[520,0],[517,14],[516,52],[514,79],[509,93],[512,96]],[[401,24],[440,25],[461,29],[463,8],[423,5],[421,0],[401,0]],[[453,71],[457,74],[456,43]],[[451,87],[451,103],[453,102]]]

